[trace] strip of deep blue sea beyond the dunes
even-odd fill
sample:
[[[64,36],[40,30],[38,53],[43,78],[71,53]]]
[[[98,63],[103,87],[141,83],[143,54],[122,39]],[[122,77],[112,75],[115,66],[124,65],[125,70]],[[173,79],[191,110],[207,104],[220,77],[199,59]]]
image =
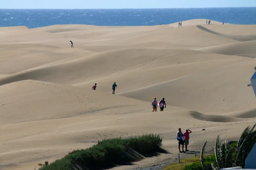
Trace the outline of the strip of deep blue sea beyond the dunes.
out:
[[[256,7],[201,9],[0,9],[0,26],[37,28],[56,24],[146,26],[189,19],[256,24]]]

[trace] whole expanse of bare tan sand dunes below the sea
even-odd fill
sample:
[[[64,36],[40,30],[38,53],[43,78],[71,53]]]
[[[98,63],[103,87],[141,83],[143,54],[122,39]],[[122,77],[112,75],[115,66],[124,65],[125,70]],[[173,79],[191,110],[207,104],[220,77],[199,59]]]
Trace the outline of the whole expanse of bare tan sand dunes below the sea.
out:
[[[191,151],[206,140],[211,151],[218,134],[237,139],[256,123],[247,87],[255,37],[255,25],[205,19],[0,28],[0,169],[32,170],[104,138],[145,133],[160,134],[170,154],[113,170],[168,163],[177,158],[178,128],[191,129]],[[164,112],[152,112],[154,97],[165,98]]]

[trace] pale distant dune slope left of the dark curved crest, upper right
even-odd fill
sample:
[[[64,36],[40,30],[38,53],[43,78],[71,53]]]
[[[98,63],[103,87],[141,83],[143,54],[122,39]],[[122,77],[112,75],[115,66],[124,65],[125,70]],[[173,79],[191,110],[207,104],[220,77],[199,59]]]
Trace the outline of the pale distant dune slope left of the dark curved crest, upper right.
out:
[[[160,25],[161,26],[161,25]],[[121,36],[108,36],[106,34],[104,39],[110,43],[108,45],[132,45],[142,44],[148,42],[170,42],[179,45],[182,48],[195,48],[195,47],[206,47],[219,44],[228,44],[237,42],[237,40],[220,37],[201,29],[198,29],[196,25],[184,26],[179,28],[160,27],[161,29],[152,29],[151,31],[144,31],[135,34],[121,34]],[[122,29],[120,29],[122,30]],[[118,32],[118,30],[116,31]],[[195,36],[196,35],[196,36]],[[100,37],[101,38],[101,37]],[[102,38],[101,38],[102,39]],[[210,39],[210,41],[209,41]],[[90,42],[84,46],[92,45],[106,45],[105,41]]]

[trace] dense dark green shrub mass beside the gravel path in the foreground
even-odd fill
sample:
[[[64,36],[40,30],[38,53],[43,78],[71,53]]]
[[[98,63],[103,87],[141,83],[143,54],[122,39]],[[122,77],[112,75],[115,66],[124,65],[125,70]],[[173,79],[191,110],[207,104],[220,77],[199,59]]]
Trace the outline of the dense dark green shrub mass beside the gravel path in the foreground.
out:
[[[126,139],[104,139],[90,148],[72,151],[40,170],[74,170],[74,166],[81,169],[106,169],[162,152],[164,150],[161,145],[162,138],[154,134]]]

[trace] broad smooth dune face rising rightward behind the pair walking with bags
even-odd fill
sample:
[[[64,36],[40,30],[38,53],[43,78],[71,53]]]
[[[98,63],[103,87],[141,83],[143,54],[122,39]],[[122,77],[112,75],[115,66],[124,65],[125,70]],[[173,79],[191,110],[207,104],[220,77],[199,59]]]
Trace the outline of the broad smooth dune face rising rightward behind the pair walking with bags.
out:
[[[152,86],[123,92],[120,95],[148,102],[149,96],[158,99],[163,96],[168,98],[173,106],[206,113],[252,109],[255,108],[255,94],[245,83],[250,80],[253,72],[251,68],[255,67],[252,60],[255,59],[226,63]],[[239,90],[235,90],[236,88]],[[157,89],[163,90],[155,93]]]

